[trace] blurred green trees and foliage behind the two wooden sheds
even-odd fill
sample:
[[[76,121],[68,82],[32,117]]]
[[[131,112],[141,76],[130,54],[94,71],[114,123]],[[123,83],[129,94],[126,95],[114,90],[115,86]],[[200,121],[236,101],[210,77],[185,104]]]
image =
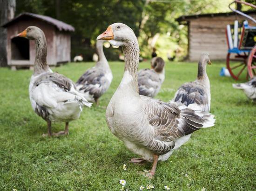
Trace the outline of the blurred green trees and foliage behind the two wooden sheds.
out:
[[[150,57],[152,48],[156,47],[158,55],[165,59],[167,54],[182,59],[187,53],[187,26],[180,26],[175,19],[181,15],[229,12],[230,2],[231,0],[17,0],[16,14],[45,14],[73,25],[76,31],[72,33],[72,57],[83,54],[85,60],[91,60],[96,37],[108,25],[122,22],[135,31],[143,57]],[[115,59],[120,53],[121,51],[116,51],[108,57]]]

